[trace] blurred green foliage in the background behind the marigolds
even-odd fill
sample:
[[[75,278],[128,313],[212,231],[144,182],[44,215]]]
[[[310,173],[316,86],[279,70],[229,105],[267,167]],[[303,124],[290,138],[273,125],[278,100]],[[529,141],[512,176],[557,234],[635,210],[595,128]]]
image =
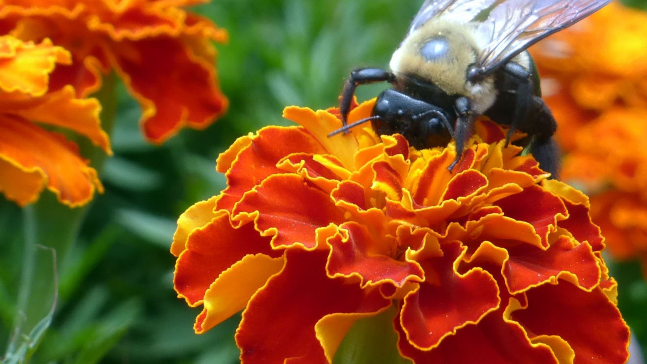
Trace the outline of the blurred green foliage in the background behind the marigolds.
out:
[[[230,33],[230,43],[218,47],[230,111],[205,131],[184,130],[164,146],[152,146],[138,129],[137,103],[118,85],[115,156],[100,173],[105,193],[78,212],[80,237],[59,256],[56,314],[31,362],[236,363],[239,317],[196,336],[192,324],[199,309],[175,297],[175,258],[169,253],[175,220],[225,187],[215,159],[237,137],[267,124],[289,124],[281,119],[284,106],[336,105],[354,67],[386,67],[421,2],[214,0],[197,6]],[[358,98],[374,97],[382,88],[362,87]],[[67,207],[50,192],[41,200],[41,214],[65,219]],[[0,198],[0,343],[9,341],[16,317],[24,223],[23,211]],[[45,255],[39,262],[51,261],[49,251],[35,254]],[[37,269],[48,269],[43,264]],[[611,267],[620,282],[620,308],[644,345],[647,284],[635,264]],[[53,280],[38,283],[51,289]],[[37,304],[47,313],[52,295]],[[43,317],[24,319],[35,324]]]

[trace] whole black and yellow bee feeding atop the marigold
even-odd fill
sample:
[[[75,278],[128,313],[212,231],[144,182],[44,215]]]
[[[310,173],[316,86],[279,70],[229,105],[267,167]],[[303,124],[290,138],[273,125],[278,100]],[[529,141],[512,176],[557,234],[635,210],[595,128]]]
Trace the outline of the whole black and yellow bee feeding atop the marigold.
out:
[[[400,133],[415,148],[446,145],[457,157],[479,115],[528,137],[527,148],[540,167],[558,177],[557,125],[541,98],[539,74],[528,47],[607,5],[610,0],[426,0],[406,37],[393,53],[391,71],[352,71],[341,100],[343,127],[371,122],[380,134]],[[347,124],[358,85],[389,82],[371,117]]]

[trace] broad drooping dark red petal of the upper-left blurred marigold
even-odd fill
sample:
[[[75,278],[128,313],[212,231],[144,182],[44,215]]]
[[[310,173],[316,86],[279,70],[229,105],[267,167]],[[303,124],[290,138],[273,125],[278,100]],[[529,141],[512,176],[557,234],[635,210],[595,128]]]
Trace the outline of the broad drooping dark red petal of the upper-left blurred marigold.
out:
[[[190,54],[180,40],[122,41],[113,51],[120,52],[113,61],[117,72],[142,105],[140,122],[150,141],[160,144],[185,125],[206,128],[225,113],[228,100],[216,84],[214,66]]]

